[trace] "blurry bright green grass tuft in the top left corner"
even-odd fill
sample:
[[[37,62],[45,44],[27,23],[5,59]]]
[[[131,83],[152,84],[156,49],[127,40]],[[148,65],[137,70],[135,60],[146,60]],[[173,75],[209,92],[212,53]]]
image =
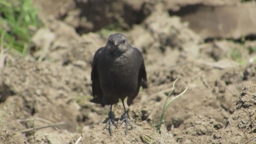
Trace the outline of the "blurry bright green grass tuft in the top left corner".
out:
[[[4,48],[26,56],[32,29],[37,27],[32,0],[0,0],[0,33],[5,32]]]

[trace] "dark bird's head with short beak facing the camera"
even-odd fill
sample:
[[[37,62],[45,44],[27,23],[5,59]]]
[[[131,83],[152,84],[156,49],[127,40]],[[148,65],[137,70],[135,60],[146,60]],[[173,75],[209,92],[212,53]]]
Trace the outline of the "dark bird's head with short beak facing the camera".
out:
[[[129,48],[126,37],[122,34],[111,34],[108,38],[106,48],[110,53],[123,53]]]

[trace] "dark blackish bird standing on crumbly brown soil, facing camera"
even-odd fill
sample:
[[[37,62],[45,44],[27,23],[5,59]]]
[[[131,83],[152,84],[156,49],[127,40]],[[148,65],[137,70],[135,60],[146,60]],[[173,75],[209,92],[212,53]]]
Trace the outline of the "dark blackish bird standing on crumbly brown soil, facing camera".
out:
[[[92,64],[92,95],[90,102],[110,105],[110,113],[106,126],[112,135],[111,122],[118,127],[113,119],[112,105],[118,103],[119,98],[124,106],[124,99],[127,98],[127,105],[130,106],[138,95],[142,81],[147,81],[146,68],[141,52],[128,44],[126,37],[122,34],[111,34],[106,46],[99,48],[94,54]],[[128,132],[129,122],[128,111],[124,106],[124,115],[121,123],[126,123]]]

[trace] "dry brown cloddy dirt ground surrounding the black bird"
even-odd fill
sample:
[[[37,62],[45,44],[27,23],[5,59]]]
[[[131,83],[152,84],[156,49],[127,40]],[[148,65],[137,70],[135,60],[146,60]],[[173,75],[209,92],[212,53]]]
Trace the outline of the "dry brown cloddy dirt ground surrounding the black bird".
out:
[[[235,28],[233,39],[233,31],[211,35],[188,18],[209,6],[255,10],[249,3],[34,0],[44,27],[26,58],[6,53],[0,73],[0,143],[74,144],[82,134],[79,144],[256,144],[254,28]],[[126,136],[124,126],[113,136],[102,130],[109,106],[89,102],[94,53],[118,30],[141,50],[148,74],[148,88],[129,108],[135,127]],[[167,108],[158,133],[152,125],[177,78],[172,97],[188,90]],[[122,104],[113,111],[120,118]]]

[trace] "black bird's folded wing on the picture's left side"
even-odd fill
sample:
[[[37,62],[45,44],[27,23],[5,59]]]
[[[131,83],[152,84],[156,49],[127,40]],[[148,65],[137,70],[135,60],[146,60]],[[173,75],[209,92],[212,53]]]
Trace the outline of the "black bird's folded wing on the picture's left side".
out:
[[[104,47],[99,48],[93,58],[92,62],[92,72],[91,72],[91,80],[92,80],[92,96],[94,97],[90,102],[94,102],[96,104],[102,104],[101,97],[102,97],[102,90],[100,88],[100,82],[99,82],[99,74],[97,70],[97,62],[99,60],[99,57],[102,54],[102,50]]]

